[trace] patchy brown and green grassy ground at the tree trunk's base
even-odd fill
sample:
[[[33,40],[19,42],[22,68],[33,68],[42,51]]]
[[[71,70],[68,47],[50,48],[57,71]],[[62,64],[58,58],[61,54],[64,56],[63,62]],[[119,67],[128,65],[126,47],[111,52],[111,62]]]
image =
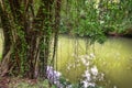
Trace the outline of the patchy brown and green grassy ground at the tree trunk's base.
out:
[[[0,88],[56,88],[47,79],[0,77]]]

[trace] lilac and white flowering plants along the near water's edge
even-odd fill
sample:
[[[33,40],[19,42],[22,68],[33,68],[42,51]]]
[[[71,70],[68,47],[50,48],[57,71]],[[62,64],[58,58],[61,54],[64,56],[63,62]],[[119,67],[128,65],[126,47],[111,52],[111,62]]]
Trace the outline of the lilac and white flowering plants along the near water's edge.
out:
[[[57,88],[97,88],[96,81],[103,80],[103,74],[98,72],[97,66],[87,67],[82,74],[82,78],[78,84],[72,84],[63,75],[55,70],[52,66],[47,66],[47,78],[51,84],[54,84]]]

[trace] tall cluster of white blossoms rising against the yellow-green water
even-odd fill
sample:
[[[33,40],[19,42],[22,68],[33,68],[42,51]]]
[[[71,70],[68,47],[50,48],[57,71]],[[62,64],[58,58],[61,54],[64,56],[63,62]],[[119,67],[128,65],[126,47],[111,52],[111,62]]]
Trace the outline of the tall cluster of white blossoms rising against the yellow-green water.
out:
[[[96,87],[97,81],[103,80],[105,74],[99,73],[97,66],[94,64],[94,59],[96,59],[95,54],[91,53],[89,55],[80,55],[80,56],[73,54],[73,56],[76,57],[75,61],[76,64],[68,63],[67,70],[72,72],[73,68],[79,68],[81,66],[86,67],[86,70],[81,75],[81,79],[79,79],[80,84],[82,85],[82,88]]]

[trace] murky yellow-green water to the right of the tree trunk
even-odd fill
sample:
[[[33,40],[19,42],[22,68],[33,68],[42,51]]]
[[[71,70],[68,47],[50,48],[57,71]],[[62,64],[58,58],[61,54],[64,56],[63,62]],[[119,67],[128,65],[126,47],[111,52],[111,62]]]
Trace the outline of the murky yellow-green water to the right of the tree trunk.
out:
[[[64,77],[78,82],[87,67],[78,62],[80,58],[77,56],[95,54],[92,63],[105,74],[105,79],[97,81],[98,85],[132,88],[132,38],[109,37],[105,44],[86,45],[86,38],[59,36],[57,69]]]

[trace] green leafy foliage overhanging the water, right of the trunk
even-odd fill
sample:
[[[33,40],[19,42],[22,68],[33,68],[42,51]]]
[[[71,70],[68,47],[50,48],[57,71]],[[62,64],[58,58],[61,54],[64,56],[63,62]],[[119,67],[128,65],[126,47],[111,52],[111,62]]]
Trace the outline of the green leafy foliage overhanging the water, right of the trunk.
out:
[[[109,0],[65,2],[63,9],[68,13],[62,11],[61,33],[88,36],[91,43],[96,41],[103,43],[107,33],[123,33],[132,26],[131,4],[131,0],[124,2]],[[66,6],[70,8],[65,8]]]

